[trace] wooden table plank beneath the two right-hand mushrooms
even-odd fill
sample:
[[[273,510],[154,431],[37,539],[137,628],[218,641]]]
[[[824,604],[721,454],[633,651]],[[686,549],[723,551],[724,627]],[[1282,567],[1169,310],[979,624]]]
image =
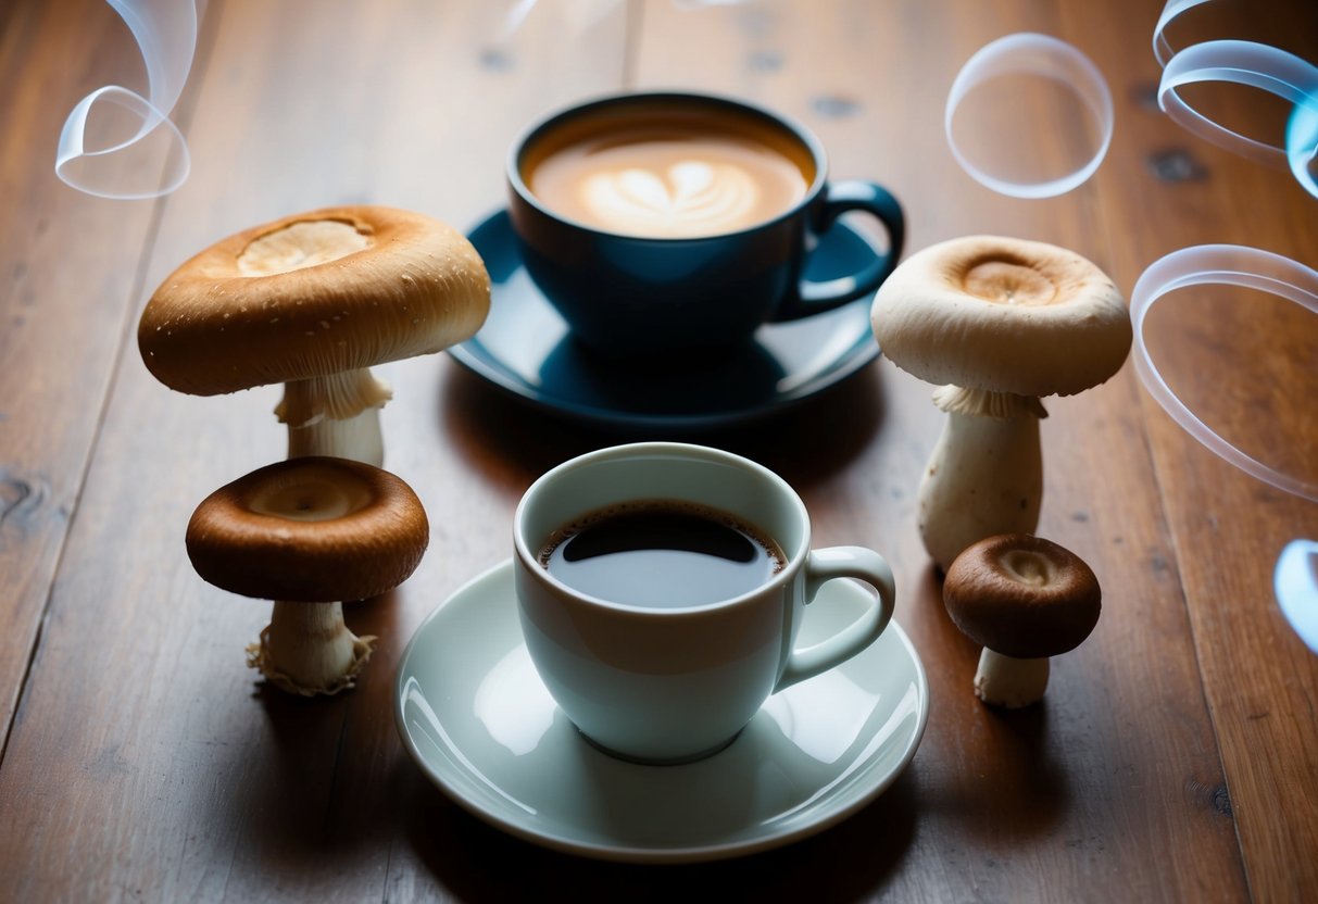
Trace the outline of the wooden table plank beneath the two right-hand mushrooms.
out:
[[[942,138],[952,79],[988,38],[1033,30],[1093,43],[1056,8],[960,5],[952,16],[928,5],[757,4],[720,18],[658,3],[646,20],[642,84],[685,71],[691,83],[801,117],[828,145],[834,174],[878,178],[902,198],[912,249],[982,231],[1053,241],[1112,268],[1112,233],[1128,216],[1122,186],[1110,187],[1112,202],[1097,186],[1014,200],[974,183]],[[721,47],[699,70],[677,51],[676,36],[691,33]],[[796,36],[808,43],[797,47]],[[757,70],[766,54],[776,67]],[[1137,100],[1114,94],[1126,121]],[[917,805],[883,891],[902,900],[1083,900],[1097,887],[1128,900],[1246,896],[1235,826],[1214,805],[1222,768],[1131,370],[1046,402],[1040,532],[1094,565],[1106,606],[1095,635],[1057,662],[1044,706],[1017,716],[971,696],[978,651],[948,622],[916,538],[915,486],[940,430],[931,387],[886,362],[876,380],[882,420],[870,443],[805,493],[824,539],[891,552],[898,618],[931,672],[933,710],[909,777]],[[866,846],[846,826],[834,843]]]

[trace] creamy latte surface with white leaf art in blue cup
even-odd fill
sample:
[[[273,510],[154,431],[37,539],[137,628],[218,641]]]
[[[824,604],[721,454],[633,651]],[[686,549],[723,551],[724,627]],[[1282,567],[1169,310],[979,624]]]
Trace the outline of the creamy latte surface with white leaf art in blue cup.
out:
[[[554,149],[527,182],[563,216],[659,239],[747,229],[796,207],[809,187],[780,149],[708,124],[699,132],[614,127]]]

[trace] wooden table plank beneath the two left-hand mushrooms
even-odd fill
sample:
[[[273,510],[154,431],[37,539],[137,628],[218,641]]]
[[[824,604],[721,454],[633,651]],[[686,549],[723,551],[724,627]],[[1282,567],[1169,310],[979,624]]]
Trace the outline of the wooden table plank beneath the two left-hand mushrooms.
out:
[[[297,210],[370,200],[467,225],[501,203],[511,136],[548,105],[616,87],[623,47],[614,17],[594,26],[600,53],[575,58],[550,40],[561,22],[542,11],[492,57],[481,36],[497,34],[503,12],[212,4],[215,50],[188,130],[194,170],[163,207],[142,290],[125,300],[138,306],[208,242]],[[41,24],[40,37],[53,28]],[[107,216],[82,240],[111,254],[111,236]],[[120,308],[116,336],[123,319]],[[268,604],[203,584],[183,553],[204,494],[283,456],[270,414],[278,391],[185,398],[156,383],[132,340],[117,364],[0,772],[0,863],[21,864],[3,871],[0,897],[360,901],[394,883],[426,887],[399,814],[407,797],[442,796],[402,752],[393,667],[422,617],[506,557],[526,474],[503,469],[469,431],[448,435],[465,428],[445,419],[447,361],[385,368],[395,386],[389,465],[431,513],[432,551],[402,590],[349,609],[358,631],[382,636],[357,692],[282,698],[243,663]]]

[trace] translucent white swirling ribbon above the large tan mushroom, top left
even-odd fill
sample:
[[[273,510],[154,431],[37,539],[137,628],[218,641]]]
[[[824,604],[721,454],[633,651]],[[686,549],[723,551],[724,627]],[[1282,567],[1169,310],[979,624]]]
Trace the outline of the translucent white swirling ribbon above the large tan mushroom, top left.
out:
[[[146,65],[148,98],[117,84],[96,88],[65,120],[55,174],[99,198],[158,198],[191,166],[169,120],[192,67],[202,0],[107,0],[132,32]]]

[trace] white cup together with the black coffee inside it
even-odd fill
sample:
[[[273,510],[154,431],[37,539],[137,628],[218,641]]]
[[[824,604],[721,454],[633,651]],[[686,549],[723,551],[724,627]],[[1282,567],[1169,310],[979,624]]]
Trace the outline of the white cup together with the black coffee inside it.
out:
[[[622,560],[588,585],[552,560],[576,542],[587,550],[572,568]],[[867,648],[896,601],[878,552],[811,548],[805,503],[782,477],[681,443],[597,449],[542,474],[518,503],[513,547],[518,619],[544,687],[596,746],[646,763],[721,750],[770,694]],[[701,588],[683,565],[625,561],[664,551],[730,568],[733,582]],[[834,579],[869,584],[874,598],[842,630],[803,643],[807,604]],[[677,596],[663,598],[663,586]]]

